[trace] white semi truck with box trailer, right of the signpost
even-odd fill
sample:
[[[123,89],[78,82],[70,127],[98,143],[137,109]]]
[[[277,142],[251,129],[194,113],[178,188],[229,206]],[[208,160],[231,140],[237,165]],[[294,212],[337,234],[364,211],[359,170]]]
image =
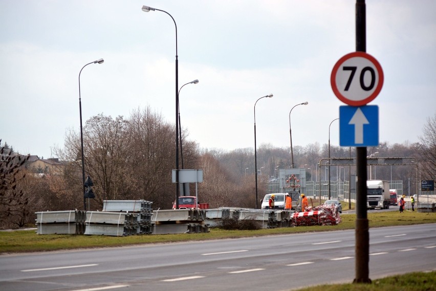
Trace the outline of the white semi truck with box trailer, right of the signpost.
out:
[[[366,181],[366,206],[371,209],[389,209],[389,182],[384,180]]]

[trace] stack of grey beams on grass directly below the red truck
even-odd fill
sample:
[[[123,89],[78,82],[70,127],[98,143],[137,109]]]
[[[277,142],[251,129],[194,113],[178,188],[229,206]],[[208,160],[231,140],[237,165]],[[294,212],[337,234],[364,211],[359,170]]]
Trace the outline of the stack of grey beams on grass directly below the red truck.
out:
[[[209,232],[204,209],[175,209],[153,211],[152,234]]]

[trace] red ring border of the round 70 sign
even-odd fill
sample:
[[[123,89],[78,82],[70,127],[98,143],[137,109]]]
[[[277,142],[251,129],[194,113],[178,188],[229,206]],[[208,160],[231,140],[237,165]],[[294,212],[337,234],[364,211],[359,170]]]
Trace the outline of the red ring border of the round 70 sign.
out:
[[[362,57],[362,58],[368,59],[370,62],[372,62],[376,66],[377,73],[379,75],[379,82],[377,83],[377,87],[376,87],[375,91],[373,92],[373,94],[369,95],[367,98],[365,98],[363,100],[358,100],[358,101],[347,99],[345,96],[343,96],[339,92],[338,87],[336,86],[336,73],[338,72],[339,67],[341,66],[342,63],[344,63],[346,60],[348,60],[352,57]],[[383,70],[381,68],[380,63],[376,60],[375,57],[373,57],[372,55],[367,54],[365,52],[353,52],[353,53],[346,54],[343,57],[341,57],[336,62],[335,66],[333,67],[332,74],[330,76],[330,83],[332,85],[333,93],[335,93],[336,97],[338,97],[339,100],[341,100],[345,104],[351,105],[351,106],[363,106],[363,105],[366,105],[367,103],[373,101],[374,99],[376,99],[377,95],[379,95],[381,88],[383,86],[383,80],[384,80]]]

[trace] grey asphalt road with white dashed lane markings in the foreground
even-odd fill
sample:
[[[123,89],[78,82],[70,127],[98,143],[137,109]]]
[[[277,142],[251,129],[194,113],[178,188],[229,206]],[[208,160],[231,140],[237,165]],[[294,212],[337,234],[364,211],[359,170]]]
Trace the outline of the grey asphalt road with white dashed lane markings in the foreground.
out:
[[[369,278],[436,270],[435,250],[436,223],[370,229]],[[354,278],[354,230],[0,256],[0,289],[15,291],[289,290]]]

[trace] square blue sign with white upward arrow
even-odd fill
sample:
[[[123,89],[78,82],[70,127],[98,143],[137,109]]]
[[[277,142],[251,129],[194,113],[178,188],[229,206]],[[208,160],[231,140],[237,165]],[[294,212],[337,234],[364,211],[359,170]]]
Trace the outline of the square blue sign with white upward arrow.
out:
[[[339,145],[378,146],[379,106],[339,106]]]

